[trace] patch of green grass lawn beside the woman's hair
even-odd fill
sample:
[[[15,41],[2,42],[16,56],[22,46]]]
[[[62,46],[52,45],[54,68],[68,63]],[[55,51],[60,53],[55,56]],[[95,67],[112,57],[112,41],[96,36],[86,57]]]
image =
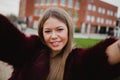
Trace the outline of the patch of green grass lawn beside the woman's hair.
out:
[[[102,39],[74,38],[76,47],[88,48],[99,43]]]

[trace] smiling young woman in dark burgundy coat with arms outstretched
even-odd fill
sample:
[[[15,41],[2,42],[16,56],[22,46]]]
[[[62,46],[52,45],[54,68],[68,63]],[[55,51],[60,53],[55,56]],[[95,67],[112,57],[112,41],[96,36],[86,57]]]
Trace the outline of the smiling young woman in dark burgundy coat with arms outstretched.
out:
[[[120,40],[108,38],[88,48],[73,46],[72,19],[47,9],[38,36],[26,37],[0,15],[0,60],[13,65],[9,80],[113,80],[120,76]]]

